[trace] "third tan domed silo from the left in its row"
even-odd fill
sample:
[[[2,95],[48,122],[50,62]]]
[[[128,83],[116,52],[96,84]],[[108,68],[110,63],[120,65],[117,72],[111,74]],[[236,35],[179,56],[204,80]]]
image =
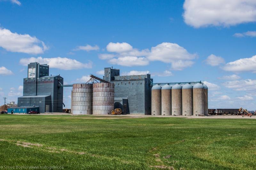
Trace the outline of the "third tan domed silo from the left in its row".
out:
[[[182,87],[179,84],[172,86],[172,115],[182,115]]]

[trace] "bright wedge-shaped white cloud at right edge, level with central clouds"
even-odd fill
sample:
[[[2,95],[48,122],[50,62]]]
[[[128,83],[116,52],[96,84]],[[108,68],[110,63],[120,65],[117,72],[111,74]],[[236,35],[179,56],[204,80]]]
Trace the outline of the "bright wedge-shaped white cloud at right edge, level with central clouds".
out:
[[[256,55],[251,58],[243,58],[227,63],[223,70],[233,72],[251,71],[256,72]]]

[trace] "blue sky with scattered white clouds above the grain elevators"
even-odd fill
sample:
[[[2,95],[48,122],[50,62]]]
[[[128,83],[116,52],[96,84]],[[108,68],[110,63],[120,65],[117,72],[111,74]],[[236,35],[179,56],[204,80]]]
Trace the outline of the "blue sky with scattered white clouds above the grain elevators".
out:
[[[149,72],[155,83],[201,80],[209,108],[256,109],[255,0],[0,0],[0,16],[7,102],[22,96],[26,65],[38,61],[66,84],[111,66],[122,75]]]

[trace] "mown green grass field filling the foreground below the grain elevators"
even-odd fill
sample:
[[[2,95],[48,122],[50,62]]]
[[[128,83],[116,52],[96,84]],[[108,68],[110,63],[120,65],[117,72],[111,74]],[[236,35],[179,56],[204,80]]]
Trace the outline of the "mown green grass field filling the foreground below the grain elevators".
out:
[[[0,115],[0,166],[256,168],[255,120],[113,117]]]

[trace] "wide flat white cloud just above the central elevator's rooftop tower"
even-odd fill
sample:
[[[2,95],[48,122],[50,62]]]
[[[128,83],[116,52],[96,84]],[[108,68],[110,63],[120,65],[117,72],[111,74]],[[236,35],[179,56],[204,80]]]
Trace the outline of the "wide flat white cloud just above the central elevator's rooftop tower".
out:
[[[148,60],[145,57],[136,57],[136,56],[125,56],[119,58],[113,58],[109,60],[110,64],[117,64],[121,66],[146,66],[149,64]]]

